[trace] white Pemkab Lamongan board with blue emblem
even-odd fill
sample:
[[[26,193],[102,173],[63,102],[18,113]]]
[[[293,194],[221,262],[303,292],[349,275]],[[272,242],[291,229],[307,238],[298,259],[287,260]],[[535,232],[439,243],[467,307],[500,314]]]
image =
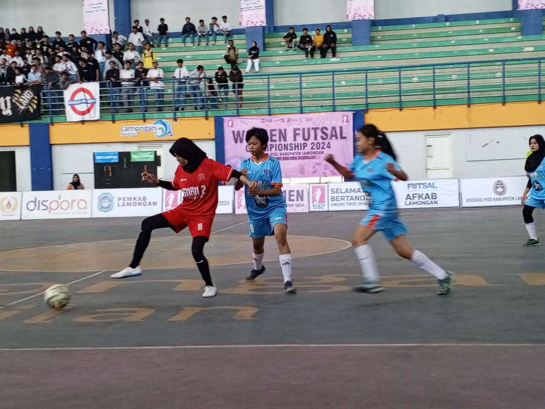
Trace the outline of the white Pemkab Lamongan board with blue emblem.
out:
[[[93,190],[93,217],[152,216],[162,211],[161,188]]]

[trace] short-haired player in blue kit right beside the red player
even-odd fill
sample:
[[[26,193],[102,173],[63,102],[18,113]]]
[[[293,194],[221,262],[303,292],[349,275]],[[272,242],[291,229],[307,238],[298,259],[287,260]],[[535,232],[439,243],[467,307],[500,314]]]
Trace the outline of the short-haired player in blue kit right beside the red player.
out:
[[[265,236],[274,236],[278,245],[278,260],[284,277],[284,291],[295,293],[292,283],[292,251],[289,249],[286,233],[288,231],[286,200],[282,194],[282,171],[280,161],[265,153],[269,143],[267,130],[252,128],[246,133],[246,142],[251,158],[240,164],[240,172],[259,187],[245,188],[246,208],[250,218],[250,237],[253,243],[253,269],[246,281],[253,281],[265,272],[263,256]],[[235,189],[242,188],[242,179]],[[243,181],[244,182],[244,181]]]

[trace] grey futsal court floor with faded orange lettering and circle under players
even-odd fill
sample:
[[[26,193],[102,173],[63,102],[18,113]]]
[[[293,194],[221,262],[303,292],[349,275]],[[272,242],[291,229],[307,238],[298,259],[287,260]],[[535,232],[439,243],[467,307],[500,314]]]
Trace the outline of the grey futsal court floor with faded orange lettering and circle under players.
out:
[[[290,214],[296,295],[273,238],[244,282],[246,216],[217,216],[208,299],[186,232],[156,231],[143,275],[111,280],[141,218],[2,222],[0,407],[545,407],[545,247],[521,247],[520,207],[401,213],[411,244],[456,272],[450,296],[380,233],[386,291],[353,292],[359,212]],[[54,283],[70,285],[64,310],[43,302]]]

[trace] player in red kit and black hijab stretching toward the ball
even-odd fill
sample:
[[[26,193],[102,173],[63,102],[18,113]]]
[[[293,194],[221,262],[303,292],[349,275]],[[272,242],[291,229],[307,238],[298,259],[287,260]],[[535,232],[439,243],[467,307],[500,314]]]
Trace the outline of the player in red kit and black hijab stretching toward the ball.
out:
[[[203,297],[214,297],[217,293],[210,277],[208,261],[204,257],[204,244],[210,238],[210,230],[217,207],[217,185],[219,181],[228,181],[232,177],[240,179],[251,189],[257,188],[256,182],[250,182],[240,172],[207,158],[195,142],[180,138],[169,151],[179,163],[172,182],[160,181],[154,175],[144,172],[142,180],[155,183],[167,190],[181,190],[183,201],[168,212],[150,216],[142,221],[142,230],[136,240],[136,247],[129,267],[111,278],[127,278],[142,274],[140,260],[148,247],[152,231],[156,228],[170,227],[179,233],[186,227],[193,237],[191,252],[197,268],[205,282]]]

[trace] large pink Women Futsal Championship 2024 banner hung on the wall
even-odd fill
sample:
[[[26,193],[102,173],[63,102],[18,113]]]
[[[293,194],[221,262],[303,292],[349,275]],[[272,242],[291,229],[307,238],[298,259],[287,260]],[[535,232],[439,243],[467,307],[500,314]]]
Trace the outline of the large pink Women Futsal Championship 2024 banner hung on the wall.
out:
[[[240,169],[250,157],[245,138],[251,128],[267,129],[267,153],[281,161],[284,178],[337,176],[324,161],[328,153],[342,165],[354,159],[353,113],[324,112],[223,118],[226,165]]]

